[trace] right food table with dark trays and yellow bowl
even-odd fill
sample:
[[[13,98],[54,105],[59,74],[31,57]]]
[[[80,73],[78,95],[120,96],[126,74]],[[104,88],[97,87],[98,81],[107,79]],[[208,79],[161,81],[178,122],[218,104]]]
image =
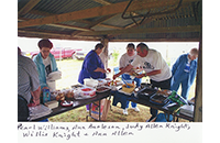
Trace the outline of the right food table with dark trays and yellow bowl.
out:
[[[127,85],[122,85],[119,90],[114,91],[113,106],[121,102],[121,108],[124,109],[123,105],[130,100],[163,111],[167,114],[166,121],[178,121],[178,118],[193,121],[194,102],[185,100],[176,91],[152,88],[151,84],[145,82],[142,82],[141,87],[135,87],[135,84]]]

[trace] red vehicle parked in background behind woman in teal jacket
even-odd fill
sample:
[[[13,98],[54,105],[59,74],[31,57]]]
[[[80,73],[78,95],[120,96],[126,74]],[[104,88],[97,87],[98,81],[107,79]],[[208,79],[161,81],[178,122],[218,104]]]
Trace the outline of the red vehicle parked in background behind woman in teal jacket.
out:
[[[55,59],[63,59],[63,58],[75,58],[75,53],[79,50],[72,50],[70,47],[56,47],[52,48],[51,53],[54,55]],[[40,52],[31,52],[31,57],[33,59]]]

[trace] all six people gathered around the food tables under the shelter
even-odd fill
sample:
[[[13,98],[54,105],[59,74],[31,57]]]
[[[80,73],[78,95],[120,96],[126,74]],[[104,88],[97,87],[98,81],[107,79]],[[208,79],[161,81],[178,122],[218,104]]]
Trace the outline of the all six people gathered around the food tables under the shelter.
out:
[[[28,105],[40,105],[40,94],[43,89],[48,89],[46,77],[48,74],[58,70],[54,56],[50,53],[53,44],[50,40],[41,40],[38,42],[40,53],[33,58],[21,55],[18,50],[18,120],[26,121],[29,118]],[[106,73],[110,73],[110,68],[106,68],[100,54],[105,46],[98,43],[95,50],[91,50],[85,57],[81,70],[79,73],[78,82],[84,85],[85,78],[106,78]],[[197,73],[198,50],[193,48],[188,54],[178,57],[172,70],[162,57],[161,53],[148,48],[144,43],[136,45],[129,43],[127,53],[124,53],[119,63],[120,72],[113,75],[113,79],[121,76],[123,79],[132,79],[136,82],[136,87],[141,85],[142,77],[148,76],[153,87],[161,89],[178,90],[182,85],[182,97],[187,99],[189,88],[194,82]],[[133,69],[143,69],[143,72],[134,79],[129,73]],[[140,109],[136,103],[131,102],[132,109],[136,112]],[[129,101],[123,114],[128,114]],[[89,106],[87,105],[87,110]],[[157,116],[157,110],[151,109],[151,119]],[[151,120],[150,119],[150,120]]]

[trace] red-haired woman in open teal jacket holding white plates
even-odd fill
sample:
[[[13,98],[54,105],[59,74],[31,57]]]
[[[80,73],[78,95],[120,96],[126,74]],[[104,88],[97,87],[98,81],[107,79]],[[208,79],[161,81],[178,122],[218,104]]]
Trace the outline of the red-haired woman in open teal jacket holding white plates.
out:
[[[41,90],[50,89],[46,77],[48,74],[58,70],[56,59],[54,58],[54,55],[50,53],[52,47],[53,43],[50,40],[41,40],[38,42],[40,53],[33,58],[37,67]]]

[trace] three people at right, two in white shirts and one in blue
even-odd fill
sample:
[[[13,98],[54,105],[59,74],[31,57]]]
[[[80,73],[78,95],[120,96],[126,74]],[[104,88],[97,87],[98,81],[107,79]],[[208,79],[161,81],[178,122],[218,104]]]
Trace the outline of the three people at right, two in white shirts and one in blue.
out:
[[[138,86],[140,86],[139,81],[142,77],[148,76],[153,88],[157,87],[177,91],[182,85],[182,97],[185,99],[188,98],[190,86],[197,73],[197,48],[193,48],[188,54],[180,55],[170,70],[160,52],[148,48],[144,43],[138,44],[136,50],[133,47],[131,48],[130,45],[132,45],[132,43],[128,44],[127,54],[122,55],[120,59],[121,70],[113,75],[113,79],[120,75],[122,75],[124,79],[131,78],[125,73],[130,73],[135,68],[142,68],[144,73],[135,77]],[[136,55],[130,54],[132,50],[136,51]],[[133,109],[138,109],[135,105],[132,105],[132,107]],[[128,114],[128,106],[123,113]],[[157,116],[157,110],[151,108],[151,114],[152,117],[148,121]]]

